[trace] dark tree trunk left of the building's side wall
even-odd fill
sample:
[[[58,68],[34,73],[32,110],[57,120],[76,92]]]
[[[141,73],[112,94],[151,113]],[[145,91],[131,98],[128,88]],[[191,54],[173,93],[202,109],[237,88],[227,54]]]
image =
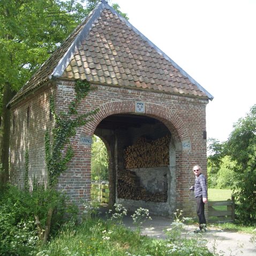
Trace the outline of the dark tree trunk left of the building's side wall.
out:
[[[3,88],[3,106],[0,126],[0,160],[2,163],[2,170],[0,171],[0,189],[9,180],[9,146],[10,146],[10,128],[11,128],[11,114],[10,110],[6,108],[7,103],[14,96],[9,83],[4,84]]]

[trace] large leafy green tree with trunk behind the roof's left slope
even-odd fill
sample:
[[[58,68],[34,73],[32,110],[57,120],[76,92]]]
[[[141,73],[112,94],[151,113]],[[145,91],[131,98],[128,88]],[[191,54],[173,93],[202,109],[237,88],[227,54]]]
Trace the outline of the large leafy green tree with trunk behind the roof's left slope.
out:
[[[100,0],[0,1],[0,184],[9,177],[6,104]],[[117,4],[114,8],[119,11]],[[0,186],[1,186],[0,185]]]

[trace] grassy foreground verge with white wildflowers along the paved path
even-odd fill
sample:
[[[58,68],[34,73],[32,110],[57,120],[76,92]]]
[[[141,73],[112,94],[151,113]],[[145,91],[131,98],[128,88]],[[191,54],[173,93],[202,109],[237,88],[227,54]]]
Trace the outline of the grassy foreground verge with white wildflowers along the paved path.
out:
[[[176,240],[172,244],[169,240],[140,236],[123,225],[116,225],[110,221],[87,220],[79,225],[68,225],[59,231],[59,235],[41,247],[40,256],[178,256],[202,255],[213,256],[207,250],[206,244],[199,243],[200,238],[183,238],[179,228],[174,227]],[[171,232],[171,231],[170,231]],[[203,242],[203,241],[202,241]],[[169,246],[167,246],[169,244]],[[170,244],[171,247],[170,247]],[[176,246],[178,245],[178,249]],[[172,253],[169,250],[175,247]]]

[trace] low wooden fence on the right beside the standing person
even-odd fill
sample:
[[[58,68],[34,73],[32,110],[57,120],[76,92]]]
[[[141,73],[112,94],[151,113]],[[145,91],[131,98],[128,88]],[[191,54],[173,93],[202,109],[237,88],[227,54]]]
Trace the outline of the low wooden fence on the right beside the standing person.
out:
[[[227,201],[208,202],[209,222],[234,222],[235,221],[235,198]]]

